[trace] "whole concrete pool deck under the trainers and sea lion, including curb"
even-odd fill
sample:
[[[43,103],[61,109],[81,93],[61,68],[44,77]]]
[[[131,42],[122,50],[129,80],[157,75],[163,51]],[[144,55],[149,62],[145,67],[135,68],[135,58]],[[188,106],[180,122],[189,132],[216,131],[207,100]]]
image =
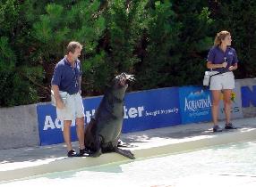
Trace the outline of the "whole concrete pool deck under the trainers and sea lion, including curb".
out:
[[[256,118],[235,119],[233,123],[239,128],[221,133],[212,133],[211,123],[201,123],[123,134],[122,140],[132,144],[129,150],[136,159],[256,140]],[[220,122],[220,125],[224,126],[224,122]],[[73,148],[77,150],[77,142],[73,142]],[[124,160],[128,159],[116,153],[103,154],[98,158],[66,158],[63,143],[0,150],[0,183]]]

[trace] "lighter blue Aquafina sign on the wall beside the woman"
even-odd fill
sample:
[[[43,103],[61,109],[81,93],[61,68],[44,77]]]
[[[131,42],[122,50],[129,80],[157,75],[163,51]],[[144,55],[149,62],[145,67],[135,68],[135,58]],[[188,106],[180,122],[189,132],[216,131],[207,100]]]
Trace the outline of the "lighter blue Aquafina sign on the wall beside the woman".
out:
[[[209,89],[201,86],[183,86],[179,89],[182,124],[211,120]]]

